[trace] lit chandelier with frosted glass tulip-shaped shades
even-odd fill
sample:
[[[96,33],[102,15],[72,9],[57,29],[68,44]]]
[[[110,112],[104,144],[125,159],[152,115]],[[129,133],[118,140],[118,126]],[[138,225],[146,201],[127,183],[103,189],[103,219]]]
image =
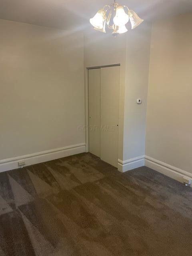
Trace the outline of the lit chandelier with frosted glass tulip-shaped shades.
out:
[[[125,9],[128,14],[126,14]],[[113,24],[111,23],[112,13],[114,15]],[[122,6],[116,3],[111,4],[111,6],[106,5],[102,9],[98,10],[93,18],[90,19],[90,23],[94,26],[95,30],[106,33],[106,25],[108,28],[112,29],[112,34],[116,37],[118,34],[123,34],[127,32],[126,24],[130,20],[132,29],[140,25],[143,20],[133,11],[129,10],[127,6]]]

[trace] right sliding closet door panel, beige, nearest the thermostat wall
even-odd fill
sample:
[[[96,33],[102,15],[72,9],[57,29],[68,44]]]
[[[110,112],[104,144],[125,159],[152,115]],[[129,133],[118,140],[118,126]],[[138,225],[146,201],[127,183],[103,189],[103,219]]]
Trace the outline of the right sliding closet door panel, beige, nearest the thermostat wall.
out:
[[[101,159],[117,167],[120,67],[101,68]]]

